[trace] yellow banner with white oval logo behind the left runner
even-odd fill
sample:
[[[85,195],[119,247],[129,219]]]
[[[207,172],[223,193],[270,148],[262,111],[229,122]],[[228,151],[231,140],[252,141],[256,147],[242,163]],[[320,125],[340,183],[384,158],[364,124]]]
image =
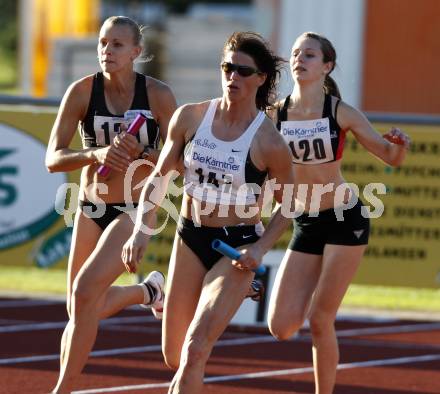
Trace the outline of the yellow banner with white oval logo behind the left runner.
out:
[[[70,238],[60,234],[71,229],[55,211],[55,196],[63,183],[78,182],[79,172],[49,174],[45,167],[55,115],[52,108],[0,106],[1,265],[66,262]]]

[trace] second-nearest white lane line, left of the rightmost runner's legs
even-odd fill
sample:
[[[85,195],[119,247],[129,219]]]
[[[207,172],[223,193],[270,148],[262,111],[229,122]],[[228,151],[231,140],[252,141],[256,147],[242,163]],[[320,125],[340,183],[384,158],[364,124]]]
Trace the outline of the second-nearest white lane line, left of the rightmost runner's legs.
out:
[[[237,338],[237,339],[225,339],[220,340],[215,345],[216,347],[223,346],[240,346],[240,345],[253,345],[256,343],[264,342],[275,342],[276,339],[269,336],[259,336],[252,338]],[[106,356],[116,356],[121,354],[133,354],[133,353],[151,353],[160,352],[161,345],[150,345],[150,346],[136,346],[136,347],[126,347],[119,349],[107,349],[107,350],[95,350],[90,353],[90,357],[106,357]],[[41,356],[29,356],[29,357],[15,357],[15,358],[3,358],[0,359],[0,365],[12,365],[21,363],[35,363],[41,361],[52,361],[58,360],[59,354],[47,354]]]

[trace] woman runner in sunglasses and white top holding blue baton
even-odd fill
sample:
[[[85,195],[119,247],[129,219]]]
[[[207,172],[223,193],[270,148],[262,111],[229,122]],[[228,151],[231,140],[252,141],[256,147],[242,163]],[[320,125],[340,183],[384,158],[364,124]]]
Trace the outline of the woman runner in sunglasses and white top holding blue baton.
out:
[[[285,165],[292,160],[289,148],[262,112],[280,61],[256,33],[234,33],[227,40],[221,64],[223,96],[185,105],[173,115],[169,137],[142,192],[147,212],[139,204],[135,230],[124,245],[123,260],[134,270],[147,245],[143,224],[149,225],[169,172],[183,154],[185,194],[162,332],[165,361],[177,369],[169,393],[202,391],[208,357],[246,296],[252,269],[288,226],[278,210],[263,233],[258,187],[246,187],[261,186],[267,177],[281,185],[293,182],[292,168]],[[276,192],[279,201],[281,193]],[[231,264],[211,248],[215,238],[238,248],[242,257]]]

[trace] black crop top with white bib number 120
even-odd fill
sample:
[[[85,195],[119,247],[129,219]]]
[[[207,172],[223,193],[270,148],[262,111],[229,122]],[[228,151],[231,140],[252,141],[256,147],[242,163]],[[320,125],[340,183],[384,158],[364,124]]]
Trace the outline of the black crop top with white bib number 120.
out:
[[[321,164],[342,158],[345,131],[336,121],[336,102],[334,115],[332,96],[326,94],[321,119],[287,120],[290,95],[283,107],[278,109],[277,129],[289,144],[295,164]]]

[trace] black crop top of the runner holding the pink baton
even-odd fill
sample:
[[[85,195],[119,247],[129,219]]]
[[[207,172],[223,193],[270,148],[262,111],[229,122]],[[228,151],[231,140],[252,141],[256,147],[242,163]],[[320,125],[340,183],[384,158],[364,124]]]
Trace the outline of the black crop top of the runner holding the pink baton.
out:
[[[84,148],[107,146],[120,133],[122,123],[128,127],[137,114],[142,113],[147,121],[142,125],[136,138],[144,146],[157,149],[159,145],[159,126],[154,120],[148,102],[145,75],[136,73],[135,93],[130,109],[122,115],[112,114],[105,103],[104,76],[98,72],[93,77],[89,107],[80,122],[80,135]]]

